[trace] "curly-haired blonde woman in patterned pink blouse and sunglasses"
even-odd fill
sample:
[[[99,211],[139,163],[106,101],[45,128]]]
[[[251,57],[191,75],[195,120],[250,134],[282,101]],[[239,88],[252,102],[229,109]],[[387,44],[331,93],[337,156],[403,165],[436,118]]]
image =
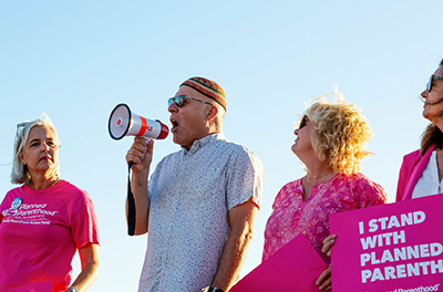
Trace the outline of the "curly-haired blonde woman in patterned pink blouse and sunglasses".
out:
[[[370,153],[372,133],[363,114],[339,93],[338,103],[324,97],[313,103],[295,131],[292,152],[305,164],[305,177],[285,185],[277,195],[265,230],[266,260],[299,234],[321,252],[329,236],[330,213],[387,202],[385,191],[358,173]],[[330,268],[318,279],[320,290],[331,290]]]

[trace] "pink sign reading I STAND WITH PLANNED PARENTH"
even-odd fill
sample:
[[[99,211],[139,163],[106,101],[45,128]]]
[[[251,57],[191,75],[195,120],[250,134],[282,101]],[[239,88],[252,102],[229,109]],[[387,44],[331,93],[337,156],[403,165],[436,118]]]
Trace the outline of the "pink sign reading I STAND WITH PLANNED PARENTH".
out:
[[[333,291],[443,291],[443,196],[330,216]]]

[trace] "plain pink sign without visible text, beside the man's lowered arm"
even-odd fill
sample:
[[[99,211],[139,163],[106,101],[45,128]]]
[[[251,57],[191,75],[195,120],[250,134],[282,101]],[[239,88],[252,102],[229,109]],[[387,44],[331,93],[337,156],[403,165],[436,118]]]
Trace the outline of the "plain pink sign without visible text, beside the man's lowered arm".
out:
[[[316,281],[328,269],[309,240],[298,236],[245,275],[229,292],[320,291]]]

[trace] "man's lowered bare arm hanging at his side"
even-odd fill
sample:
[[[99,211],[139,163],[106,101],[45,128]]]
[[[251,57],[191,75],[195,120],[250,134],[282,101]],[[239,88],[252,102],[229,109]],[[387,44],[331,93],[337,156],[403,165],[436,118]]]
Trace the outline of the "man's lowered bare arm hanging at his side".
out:
[[[253,239],[257,211],[253,198],[228,211],[229,233],[212,286],[228,291],[238,279]]]

